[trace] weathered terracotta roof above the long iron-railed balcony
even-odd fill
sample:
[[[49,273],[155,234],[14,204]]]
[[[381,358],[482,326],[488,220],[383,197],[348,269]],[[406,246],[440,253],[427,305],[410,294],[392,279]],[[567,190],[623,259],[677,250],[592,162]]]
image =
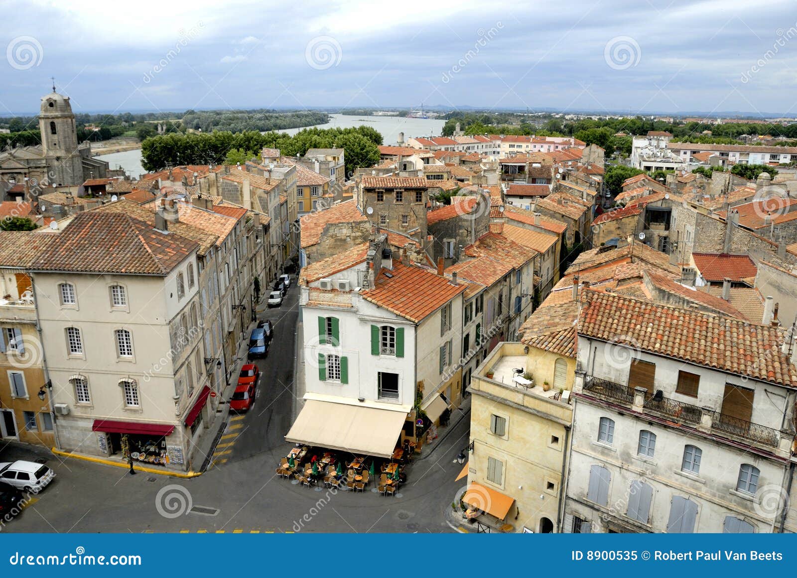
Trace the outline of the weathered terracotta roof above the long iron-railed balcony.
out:
[[[785,331],[703,313],[584,291],[579,335],[794,387],[797,368],[783,355]]]

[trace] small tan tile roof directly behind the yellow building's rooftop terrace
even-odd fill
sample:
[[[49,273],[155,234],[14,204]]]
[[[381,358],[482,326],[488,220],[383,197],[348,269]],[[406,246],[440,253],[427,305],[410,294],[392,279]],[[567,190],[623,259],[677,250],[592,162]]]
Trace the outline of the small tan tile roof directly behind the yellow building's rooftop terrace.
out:
[[[579,318],[579,305],[570,303],[552,303],[541,305],[520,326],[518,335],[520,342],[536,347],[538,350],[550,351],[564,357],[575,357],[578,339],[575,334],[575,323]]]

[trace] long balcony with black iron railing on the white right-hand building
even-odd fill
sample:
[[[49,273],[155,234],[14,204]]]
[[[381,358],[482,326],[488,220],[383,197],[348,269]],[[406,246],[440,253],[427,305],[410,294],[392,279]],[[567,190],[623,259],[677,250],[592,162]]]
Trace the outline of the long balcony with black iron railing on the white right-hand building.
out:
[[[598,377],[587,377],[583,392],[615,403],[634,406],[638,411],[677,422],[679,425],[687,425],[717,435],[729,434],[764,446],[779,445],[780,432],[775,429],[727,416],[710,408],[700,408],[697,405],[672,400],[659,393],[641,392],[628,385]]]

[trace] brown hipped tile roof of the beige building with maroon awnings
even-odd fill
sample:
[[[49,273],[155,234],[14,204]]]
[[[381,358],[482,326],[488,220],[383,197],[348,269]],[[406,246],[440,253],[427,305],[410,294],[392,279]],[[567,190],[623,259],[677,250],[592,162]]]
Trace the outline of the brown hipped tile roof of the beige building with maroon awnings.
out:
[[[78,213],[33,262],[33,271],[167,275],[198,245],[122,213]]]

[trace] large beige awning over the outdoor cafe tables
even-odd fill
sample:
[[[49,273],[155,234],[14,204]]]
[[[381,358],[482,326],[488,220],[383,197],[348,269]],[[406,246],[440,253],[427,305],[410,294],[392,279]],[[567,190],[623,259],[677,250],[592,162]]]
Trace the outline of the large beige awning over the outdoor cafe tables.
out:
[[[406,420],[405,412],[305,400],[285,439],[308,446],[390,458]]]

